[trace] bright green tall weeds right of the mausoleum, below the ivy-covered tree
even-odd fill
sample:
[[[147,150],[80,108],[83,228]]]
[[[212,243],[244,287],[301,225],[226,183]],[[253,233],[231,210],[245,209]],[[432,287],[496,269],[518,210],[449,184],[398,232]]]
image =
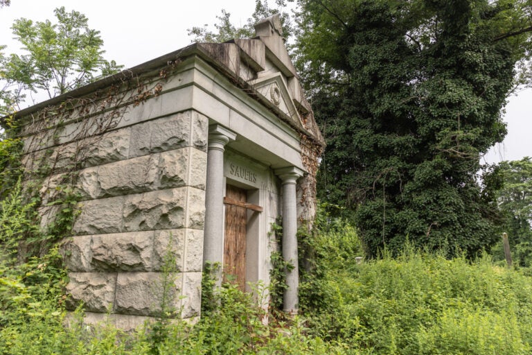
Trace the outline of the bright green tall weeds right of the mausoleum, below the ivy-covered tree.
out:
[[[532,279],[487,256],[448,260],[407,246],[397,258],[347,258],[317,284],[327,292],[308,314],[310,335],[353,352],[531,353]]]

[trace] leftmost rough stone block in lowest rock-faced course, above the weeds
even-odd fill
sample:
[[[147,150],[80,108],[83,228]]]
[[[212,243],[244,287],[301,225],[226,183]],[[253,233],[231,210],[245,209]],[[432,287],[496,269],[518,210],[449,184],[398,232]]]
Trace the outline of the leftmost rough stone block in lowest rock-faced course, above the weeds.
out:
[[[83,302],[91,312],[105,313],[112,307],[116,288],[116,272],[70,272],[67,284],[69,309]]]

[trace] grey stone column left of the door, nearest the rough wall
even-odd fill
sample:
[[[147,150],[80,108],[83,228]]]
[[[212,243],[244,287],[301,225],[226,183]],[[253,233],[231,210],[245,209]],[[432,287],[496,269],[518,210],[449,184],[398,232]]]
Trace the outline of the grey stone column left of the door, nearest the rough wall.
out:
[[[224,255],[224,147],[235,138],[236,133],[222,125],[209,126],[203,262],[220,263],[220,269]]]

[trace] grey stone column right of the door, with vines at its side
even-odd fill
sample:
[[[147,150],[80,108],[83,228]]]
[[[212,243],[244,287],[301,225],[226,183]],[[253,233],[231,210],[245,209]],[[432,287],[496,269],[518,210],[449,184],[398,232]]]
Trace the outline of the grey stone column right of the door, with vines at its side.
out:
[[[297,314],[299,288],[299,267],[297,257],[297,197],[296,181],[303,171],[295,166],[280,168],[275,171],[283,181],[283,259],[292,263],[294,268],[286,271],[288,286],[283,295],[283,311]]]

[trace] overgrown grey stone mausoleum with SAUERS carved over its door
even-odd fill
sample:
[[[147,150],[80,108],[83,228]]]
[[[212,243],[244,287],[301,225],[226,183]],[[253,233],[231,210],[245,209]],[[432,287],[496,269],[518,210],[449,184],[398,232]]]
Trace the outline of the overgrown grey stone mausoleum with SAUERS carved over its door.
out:
[[[296,229],[314,216],[323,139],[303,97],[278,17],[256,37],[192,44],[17,113],[26,182],[42,227],[77,195],[61,243],[71,307],[111,312],[131,329],[160,313],[161,270],[174,255],[172,306],[200,316],[202,269],[220,263],[269,282],[270,254],[297,266]],[[74,189],[72,189],[74,187]],[[282,220],[283,239],[271,235]],[[284,309],[298,307],[298,269]]]

